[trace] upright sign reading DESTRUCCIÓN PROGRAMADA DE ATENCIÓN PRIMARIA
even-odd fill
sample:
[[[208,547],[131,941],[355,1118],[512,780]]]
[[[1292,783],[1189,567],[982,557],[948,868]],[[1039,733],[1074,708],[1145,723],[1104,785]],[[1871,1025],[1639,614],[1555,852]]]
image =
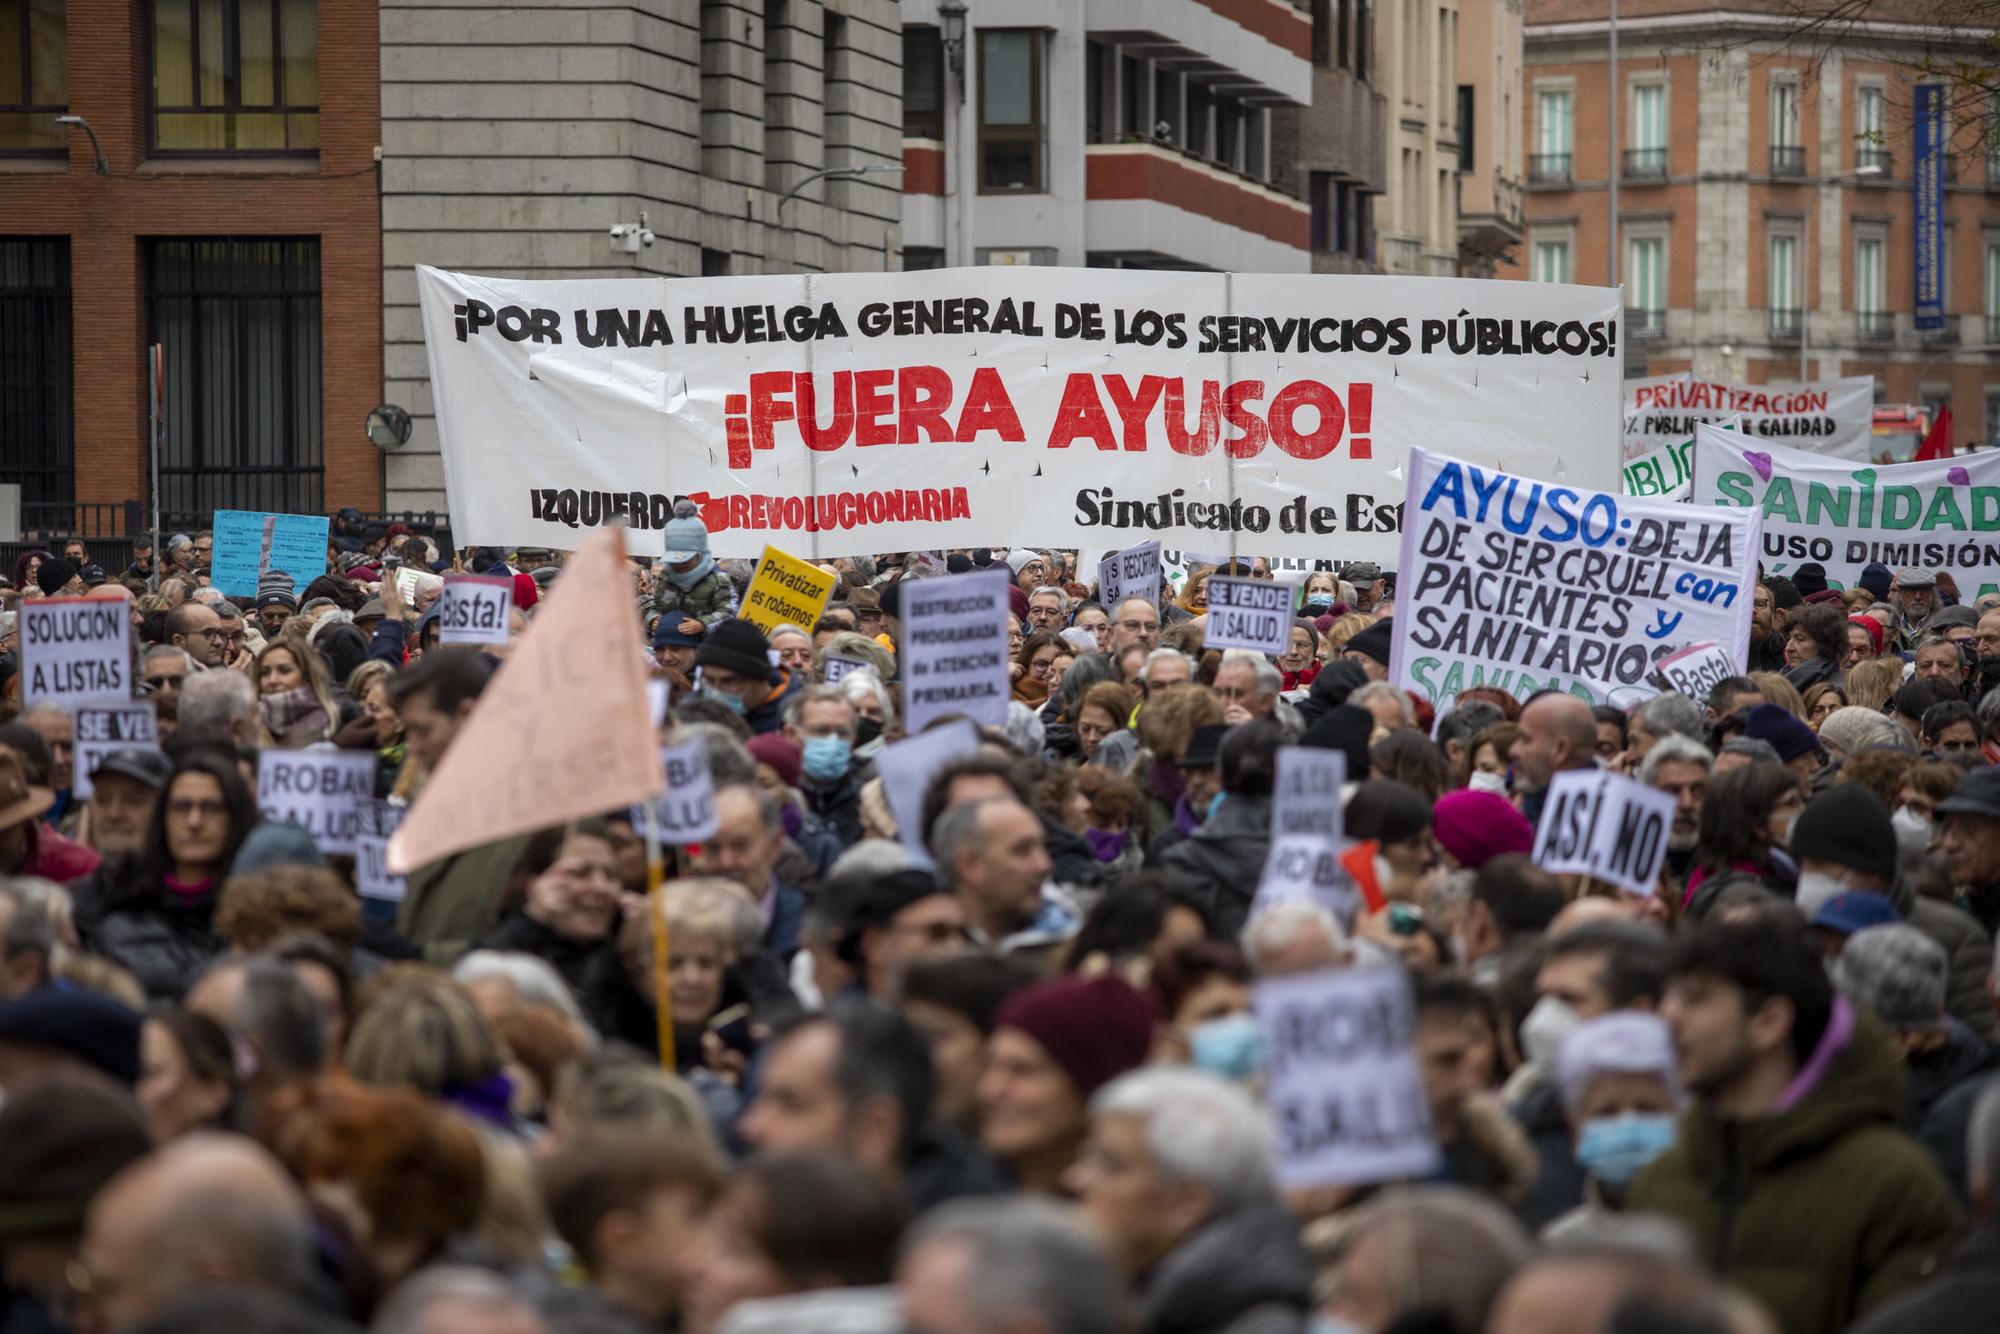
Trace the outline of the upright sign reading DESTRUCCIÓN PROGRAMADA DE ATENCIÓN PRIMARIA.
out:
[[[1006,568],[902,584],[904,726],[1006,722]]]

